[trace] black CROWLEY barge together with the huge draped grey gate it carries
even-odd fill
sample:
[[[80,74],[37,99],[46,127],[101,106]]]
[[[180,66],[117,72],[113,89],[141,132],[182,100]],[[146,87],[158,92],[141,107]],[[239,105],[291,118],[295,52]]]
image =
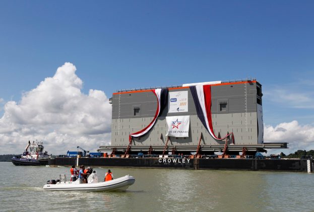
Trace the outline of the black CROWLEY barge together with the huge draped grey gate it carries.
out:
[[[262,96],[256,79],[117,90],[109,101],[111,145],[98,149],[105,157],[56,157],[48,164],[312,172],[312,160],[253,158],[288,148],[264,142]]]

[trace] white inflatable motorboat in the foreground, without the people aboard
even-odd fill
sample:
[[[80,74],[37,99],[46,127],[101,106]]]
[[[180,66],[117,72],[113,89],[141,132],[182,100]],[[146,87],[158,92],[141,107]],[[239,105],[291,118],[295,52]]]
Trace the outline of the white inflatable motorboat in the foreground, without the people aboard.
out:
[[[61,191],[124,191],[134,184],[134,182],[135,178],[130,175],[106,182],[98,182],[97,172],[94,170],[92,174],[89,175],[87,183],[83,183],[79,179],[74,182],[67,181],[66,175],[60,175],[59,180],[47,181],[43,189]]]

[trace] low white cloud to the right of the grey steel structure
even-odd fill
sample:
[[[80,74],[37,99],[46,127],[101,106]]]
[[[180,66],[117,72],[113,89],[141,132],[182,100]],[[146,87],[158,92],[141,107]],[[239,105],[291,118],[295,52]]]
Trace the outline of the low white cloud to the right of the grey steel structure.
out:
[[[299,125],[297,121],[278,124],[276,127],[264,126],[265,142],[288,142],[288,150],[283,152],[293,153],[294,151],[314,149],[314,126]],[[280,153],[278,149],[270,152]]]

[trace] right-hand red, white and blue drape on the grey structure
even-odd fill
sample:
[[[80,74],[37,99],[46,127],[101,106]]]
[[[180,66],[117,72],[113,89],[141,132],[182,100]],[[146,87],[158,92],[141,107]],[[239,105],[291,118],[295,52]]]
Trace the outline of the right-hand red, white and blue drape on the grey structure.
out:
[[[227,134],[223,138],[218,138],[214,134],[213,123],[212,123],[212,96],[211,96],[211,85],[196,85],[190,86],[192,96],[194,99],[197,114],[204,127],[210,133],[210,135],[216,140],[224,140],[231,135],[232,142],[234,142],[233,133]]]

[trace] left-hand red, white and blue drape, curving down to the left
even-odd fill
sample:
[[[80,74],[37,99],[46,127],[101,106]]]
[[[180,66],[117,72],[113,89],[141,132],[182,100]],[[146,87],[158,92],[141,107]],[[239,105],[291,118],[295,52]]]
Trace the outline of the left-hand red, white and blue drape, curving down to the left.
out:
[[[129,135],[129,141],[130,142],[132,140],[132,137],[140,137],[142,135],[145,135],[154,126],[160,112],[165,108],[165,104],[167,103],[168,89],[155,89],[155,90],[151,90],[151,91],[155,94],[155,96],[157,98],[157,107],[156,107],[156,113],[155,113],[154,119],[144,129],[142,129],[136,133],[130,134]]]

